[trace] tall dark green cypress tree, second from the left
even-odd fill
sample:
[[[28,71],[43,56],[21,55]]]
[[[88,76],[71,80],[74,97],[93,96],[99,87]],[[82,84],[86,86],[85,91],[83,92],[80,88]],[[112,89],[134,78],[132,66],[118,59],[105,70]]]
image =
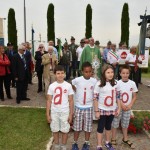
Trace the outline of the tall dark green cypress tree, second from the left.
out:
[[[47,10],[47,40],[53,40],[55,43],[55,21],[54,21],[54,5],[51,3]]]

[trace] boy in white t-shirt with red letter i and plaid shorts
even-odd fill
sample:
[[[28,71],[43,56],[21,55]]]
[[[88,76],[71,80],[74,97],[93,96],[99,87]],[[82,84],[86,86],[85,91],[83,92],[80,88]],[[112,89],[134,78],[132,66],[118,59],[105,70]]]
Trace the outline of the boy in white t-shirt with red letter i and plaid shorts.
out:
[[[72,150],[78,150],[78,138],[80,131],[85,131],[85,143],[82,150],[89,150],[90,133],[93,123],[93,96],[94,86],[97,82],[92,78],[92,65],[89,62],[82,64],[83,76],[72,80],[72,86],[75,90],[75,111],[73,120],[74,144]]]

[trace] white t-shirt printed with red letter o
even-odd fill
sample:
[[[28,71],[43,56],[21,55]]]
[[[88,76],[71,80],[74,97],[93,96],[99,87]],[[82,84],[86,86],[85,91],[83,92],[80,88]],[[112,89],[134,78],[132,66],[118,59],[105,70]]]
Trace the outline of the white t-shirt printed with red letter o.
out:
[[[118,84],[120,86],[122,102],[124,105],[129,105],[132,101],[132,94],[138,91],[135,82],[132,80],[128,80],[127,82],[119,80]]]

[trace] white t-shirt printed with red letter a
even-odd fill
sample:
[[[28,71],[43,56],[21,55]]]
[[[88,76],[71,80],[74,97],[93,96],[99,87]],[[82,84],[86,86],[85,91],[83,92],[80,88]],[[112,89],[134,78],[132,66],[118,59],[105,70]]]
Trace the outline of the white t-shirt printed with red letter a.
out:
[[[74,94],[70,83],[64,81],[58,83],[55,81],[49,86],[48,95],[52,95],[51,111],[54,112],[68,112],[69,99],[68,96]]]

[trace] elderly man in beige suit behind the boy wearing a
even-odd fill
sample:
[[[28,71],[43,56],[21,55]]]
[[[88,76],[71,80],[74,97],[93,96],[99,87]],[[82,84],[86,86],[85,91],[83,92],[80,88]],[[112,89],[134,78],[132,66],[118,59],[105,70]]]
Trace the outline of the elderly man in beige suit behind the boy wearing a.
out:
[[[45,83],[45,94],[47,95],[48,87],[55,81],[54,69],[58,64],[58,59],[53,53],[54,47],[48,46],[48,53],[42,56],[42,64],[44,66],[43,78]]]

